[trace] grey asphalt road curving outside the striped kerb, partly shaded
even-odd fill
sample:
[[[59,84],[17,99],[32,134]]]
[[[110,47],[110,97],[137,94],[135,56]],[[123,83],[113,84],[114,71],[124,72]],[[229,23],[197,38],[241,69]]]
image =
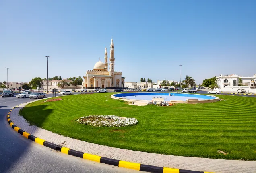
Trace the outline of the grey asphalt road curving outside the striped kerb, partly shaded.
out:
[[[47,94],[47,97],[52,97],[52,94]],[[9,126],[6,115],[14,106],[29,100],[0,97],[0,173],[138,172],[66,155],[26,139]]]

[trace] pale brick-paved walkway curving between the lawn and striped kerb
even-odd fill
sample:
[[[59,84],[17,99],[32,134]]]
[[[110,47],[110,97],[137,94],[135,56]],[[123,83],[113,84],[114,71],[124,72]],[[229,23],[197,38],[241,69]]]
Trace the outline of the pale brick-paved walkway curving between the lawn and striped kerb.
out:
[[[69,137],[64,137],[34,125],[30,126],[22,116],[19,116],[20,109],[22,109],[22,107],[24,107],[26,104],[27,103],[19,105],[17,108],[12,110],[10,113],[10,119],[12,122],[22,130],[27,131],[36,137],[61,145],[63,147],[68,147],[77,151],[99,155],[102,157],[108,157],[111,159],[118,159],[122,161],[130,161],[134,163],[154,165],[159,167],[170,167],[176,169],[215,173],[256,173],[256,161],[237,161],[162,155],[107,147],[103,145],[88,143],[85,141],[79,141]]]

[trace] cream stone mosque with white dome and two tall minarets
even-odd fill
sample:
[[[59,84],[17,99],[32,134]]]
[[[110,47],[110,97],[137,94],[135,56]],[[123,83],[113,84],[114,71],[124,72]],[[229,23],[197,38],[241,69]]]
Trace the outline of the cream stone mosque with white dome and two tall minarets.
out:
[[[105,48],[105,63],[96,62],[93,70],[88,70],[83,76],[83,88],[121,88],[124,87],[122,72],[115,72],[114,43],[110,44],[109,69],[107,62],[107,47]]]

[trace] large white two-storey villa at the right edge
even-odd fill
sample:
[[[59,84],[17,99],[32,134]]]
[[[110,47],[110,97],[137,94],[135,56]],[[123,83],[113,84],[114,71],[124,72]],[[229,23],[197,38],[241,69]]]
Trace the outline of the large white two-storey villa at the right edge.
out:
[[[239,79],[242,80],[242,83],[239,84]],[[216,77],[217,85],[219,91],[231,91],[237,92],[238,89],[245,89],[246,92],[256,93],[256,74],[252,77],[242,77],[237,74],[232,75],[220,75]],[[239,86],[244,85],[244,86]]]

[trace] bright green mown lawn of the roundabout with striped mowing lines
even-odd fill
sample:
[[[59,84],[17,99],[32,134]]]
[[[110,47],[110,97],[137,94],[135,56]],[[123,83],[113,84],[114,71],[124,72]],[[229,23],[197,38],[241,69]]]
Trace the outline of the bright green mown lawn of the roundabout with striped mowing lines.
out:
[[[224,100],[140,107],[110,96],[111,93],[95,93],[66,96],[56,102],[39,100],[23,108],[22,115],[31,124],[54,133],[111,147],[168,155],[256,160],[256,98],[218,95]],[[92,127],[76,122],[79,117],[92,114],[135,117],[138,124]]]

